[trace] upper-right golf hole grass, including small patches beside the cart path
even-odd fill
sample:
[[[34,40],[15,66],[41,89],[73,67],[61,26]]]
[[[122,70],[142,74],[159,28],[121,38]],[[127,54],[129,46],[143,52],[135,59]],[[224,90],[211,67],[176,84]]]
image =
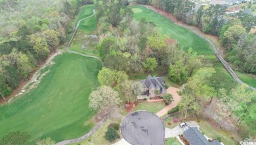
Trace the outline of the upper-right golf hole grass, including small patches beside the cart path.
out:
[[[215,54],[209,43],[188,28],[179,26],[173,21],[169,20],[169,18],[166,18],[160,13],[148,9],[144,6],[137,5],[131,6],[130,8],[133,10],[133,16],[136,20],[145,18],[148,22],[154,22],[158,30],[160,30],[163,35],[176,39],[177,42],[184,47],[185,51],[191,47],[198,54],[203,54],[207,57],[215,58]],[[220,64],[221,62],[215,64],[214,68],[221,70],[221,72],[225,73],[228,77],[231,77],[231,75],[224,69],[223,66],[220,67]],[[247,83],[251,87],[256,87],[256,77],[253,77],[247,73],[241,73],[237,71],[236,73],[244,83]]]

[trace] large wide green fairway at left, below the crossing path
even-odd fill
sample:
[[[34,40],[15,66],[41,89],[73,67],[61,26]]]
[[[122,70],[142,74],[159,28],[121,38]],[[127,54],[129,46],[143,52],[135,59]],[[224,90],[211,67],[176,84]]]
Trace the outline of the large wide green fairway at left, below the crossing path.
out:
[[[31,142],[51,137],[56,142],[85,135],[95,111],[88,96],[97,86],[101,64],[95,58],[64,53],[37,88],[11,104],[0,106],[0,138],[11,131],[28,131]]]

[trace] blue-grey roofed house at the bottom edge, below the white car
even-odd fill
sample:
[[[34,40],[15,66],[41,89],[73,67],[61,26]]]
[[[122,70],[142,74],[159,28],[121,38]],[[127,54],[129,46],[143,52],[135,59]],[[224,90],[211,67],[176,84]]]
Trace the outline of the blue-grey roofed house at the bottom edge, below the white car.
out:
[[[189,127],[183,133],[184,138],[190,145],[221,145],[218,140],[209,142],[200,132],[198,127]]]

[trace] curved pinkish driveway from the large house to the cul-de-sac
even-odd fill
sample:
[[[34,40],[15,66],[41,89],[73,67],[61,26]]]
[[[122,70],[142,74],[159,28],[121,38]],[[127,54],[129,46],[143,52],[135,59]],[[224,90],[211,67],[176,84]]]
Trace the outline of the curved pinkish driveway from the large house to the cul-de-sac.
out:
[[[181,101],[181,96],[179,96],[178,94],[178,88],[169,87],[166,91],[169,94],[173,94],[173,102],[171,102],[171,104],[160,110],[160,112],[156,113],[156,115],[158,115],[159,117],[162,117],[163,115],[167,114],[168,111],[171,110],[171,108],[175,108]]]

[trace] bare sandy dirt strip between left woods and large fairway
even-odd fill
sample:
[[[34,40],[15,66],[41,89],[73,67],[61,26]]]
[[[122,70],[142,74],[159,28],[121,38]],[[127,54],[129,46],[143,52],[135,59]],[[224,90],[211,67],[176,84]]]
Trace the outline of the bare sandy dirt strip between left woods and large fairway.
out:
[[[39,64],[39,66],[37,66],[37,68],[35,68],[35,70],[28,76],[28,79],[22,79],[18,85],[18,87],[16,89],[14,89],[14,91],[12,91],[12,94],[10,94],[9,96],[5,96],[5,99],[7,100],[7,102],[11,102],[15,96],[15,98],[18,96],[21,96],[22,94],[28,93],[28,91],[30,91],[32,89],[32,87],[36,87],[36,85],[39,83],[39,80],[41,79],[41,77],[43,77],[47,72],[41,74],[41,70],[43,68],[45,68],[46,66],[52,65],[53,62],[51,62],[51,60],[53,60],[53,58],[58,55],[61,54],[62,51],[58,50],[56,52],[53,52],[49,55],[49,57],[47,58],[47,60],[42,63]],[[3,98],[1,98],[0,100],[0,105],[4,104],[5,100],[3,100]]]

